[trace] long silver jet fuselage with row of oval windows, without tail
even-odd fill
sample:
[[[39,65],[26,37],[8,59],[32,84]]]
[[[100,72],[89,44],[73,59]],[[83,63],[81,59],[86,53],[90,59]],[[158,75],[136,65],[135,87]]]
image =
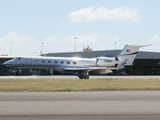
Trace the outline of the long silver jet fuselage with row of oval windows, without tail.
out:
[[[15,68],[55,69],[57,68],[88,68],[88,67],[114,67],[121,61],[115,58],[69,58],[69,57],[16,57],[4,63]]]

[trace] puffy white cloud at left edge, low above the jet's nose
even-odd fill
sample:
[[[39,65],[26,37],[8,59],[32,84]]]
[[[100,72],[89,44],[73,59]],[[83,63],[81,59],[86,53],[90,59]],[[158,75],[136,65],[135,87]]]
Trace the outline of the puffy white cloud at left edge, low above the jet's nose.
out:
[[[30,55],[33,51],[37,51],[36,45],[38,45],[36,38],[20,36],[17,31],[14,31],[0,38],[0,53],[10,54],[9,52],[12,51],[12,55]]]

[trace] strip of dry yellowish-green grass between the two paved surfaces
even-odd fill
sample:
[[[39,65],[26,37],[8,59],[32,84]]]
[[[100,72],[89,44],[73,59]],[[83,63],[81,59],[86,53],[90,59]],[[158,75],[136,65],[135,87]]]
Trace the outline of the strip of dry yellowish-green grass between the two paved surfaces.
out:
[[[0,79],[2,92],[160,90],[160,79]]]

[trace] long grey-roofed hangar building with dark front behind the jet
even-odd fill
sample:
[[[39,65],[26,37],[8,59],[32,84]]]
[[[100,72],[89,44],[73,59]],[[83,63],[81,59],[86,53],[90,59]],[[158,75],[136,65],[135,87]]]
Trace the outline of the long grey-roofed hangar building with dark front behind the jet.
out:
[[[92,49],[84,49],[81,52],[63,52],[63,53],[47,53],[43,56],[47,57],[82,57],[82,58],[94,58],[94,57],[114,57],[117,56],[121,50],[102,50],[92,51]],[[1,56],[0,57],[0,75],[53,75],[64,74],[53,70],[37,70],[37,69],[12,69],[2,65],[3,62],[12,59],[13,57]],[[121,72],[125,72],[129,75],[160,75],[160,53],[159,52],[144,52],[139,51],[136,59],[133,62],[133,66],[125,66],[124,69],[113,71],[113,75],[118,75]]]

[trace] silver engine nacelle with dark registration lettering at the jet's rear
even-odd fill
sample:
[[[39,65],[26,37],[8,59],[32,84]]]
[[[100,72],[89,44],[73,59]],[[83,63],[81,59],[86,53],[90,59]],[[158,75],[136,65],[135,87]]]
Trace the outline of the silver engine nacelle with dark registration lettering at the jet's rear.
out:
[[[119,61],[118,58],[108,58],[108,57],[98,57],[97,65],[100,67],[117,67],[121,64],[122,61]]]

